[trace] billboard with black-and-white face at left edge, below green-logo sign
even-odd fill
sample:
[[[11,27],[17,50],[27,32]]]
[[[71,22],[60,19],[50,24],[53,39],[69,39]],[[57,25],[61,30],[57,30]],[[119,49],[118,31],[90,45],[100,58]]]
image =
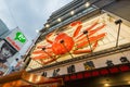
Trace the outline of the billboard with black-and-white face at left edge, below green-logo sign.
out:
[[[11,60],[16,52],[17,51],[5,40],[0,40],[0,76],[9,70]]]

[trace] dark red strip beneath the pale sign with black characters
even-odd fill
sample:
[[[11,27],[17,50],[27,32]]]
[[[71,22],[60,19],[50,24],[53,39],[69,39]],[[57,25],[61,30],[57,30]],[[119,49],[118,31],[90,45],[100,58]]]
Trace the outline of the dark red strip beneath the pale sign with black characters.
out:
[[[103,67],[99,70],[93,70],[93,71],[79,72],[79,73],[69,74],[69,75],[63,75],[60,77],[63,77],[64,80],[67,82],[73,79],[89,78],[89,77],[115,74],[115,73],[127,72],[127,71],[130,71],[130,63],[110,66],[110,67]]]

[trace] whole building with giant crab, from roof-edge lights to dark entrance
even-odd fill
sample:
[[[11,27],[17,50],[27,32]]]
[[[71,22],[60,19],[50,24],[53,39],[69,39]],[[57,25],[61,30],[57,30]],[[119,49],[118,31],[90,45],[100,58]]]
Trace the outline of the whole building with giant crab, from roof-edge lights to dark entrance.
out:
[[[62,77],[65,87],[129,87],[129,0],[74,0],[53,12],[26,71]]]

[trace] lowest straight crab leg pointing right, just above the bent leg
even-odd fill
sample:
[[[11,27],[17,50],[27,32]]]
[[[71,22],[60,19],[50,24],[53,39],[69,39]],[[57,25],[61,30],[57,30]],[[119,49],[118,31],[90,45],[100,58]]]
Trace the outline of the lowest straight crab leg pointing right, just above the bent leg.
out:
[[[98,36],[90,37],[90,38],[89,38],[89,41],[90,41],[90,44],[93,44],[94,41],[104,38],[104,36],[106,36],[106,33],[100,34],[100,35],[98,35]],[[86,38],[86,39],[87,39],[87,38]],[[84,47],[84,46],[87,46],[87,45],[89,45],[88,40],[78,44],[78,45],[76,46],[76,48],[79,49],[79,48],[82,48],[82,47]]]

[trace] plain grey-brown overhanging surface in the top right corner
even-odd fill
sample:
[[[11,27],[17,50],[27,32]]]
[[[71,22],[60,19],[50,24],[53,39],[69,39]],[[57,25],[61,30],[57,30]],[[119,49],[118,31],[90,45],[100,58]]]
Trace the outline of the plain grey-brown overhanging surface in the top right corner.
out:
[[[130,0],[116,0],[103,9],[130,22]]]

